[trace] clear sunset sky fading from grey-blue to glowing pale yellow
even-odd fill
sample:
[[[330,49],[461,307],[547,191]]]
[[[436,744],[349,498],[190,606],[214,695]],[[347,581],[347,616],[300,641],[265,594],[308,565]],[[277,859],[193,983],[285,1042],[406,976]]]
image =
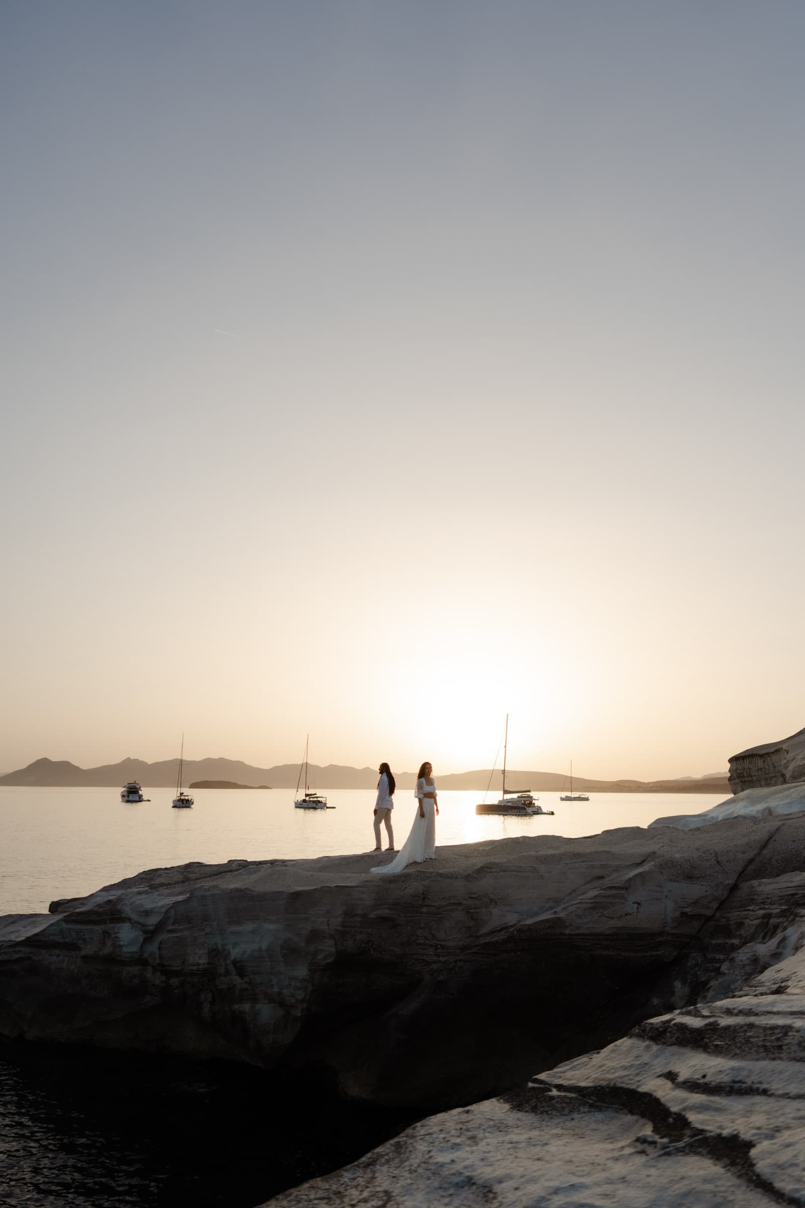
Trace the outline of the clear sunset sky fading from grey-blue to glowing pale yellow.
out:
[[[5,0],[0,769],[805,725],[799,0]]]

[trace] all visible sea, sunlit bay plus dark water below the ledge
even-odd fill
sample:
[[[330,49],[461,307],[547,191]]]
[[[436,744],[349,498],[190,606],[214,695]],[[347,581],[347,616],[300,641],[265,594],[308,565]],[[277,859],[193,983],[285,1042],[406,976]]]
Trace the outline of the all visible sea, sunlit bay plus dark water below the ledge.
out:
[[[329,792],[336,809],[293,808],[293,794],[170,789],[124,806],[119,789],[0,788],[0,913],[46,911],[144,869],[187,860],[294,858],[374,846],[374,792]],[[717,795],[600,794],[553,818],[478,818],[478,792],[439,794],[439,843],[509,835],[591,835],[699,813]],[[397,795],[402,843],[410,791]],[[344,1166],[409,1121],[334,1104],[321,1087],[279,1085],[249,1067],[68,1045],[0,1043],[0,1206],[253,1208]]]

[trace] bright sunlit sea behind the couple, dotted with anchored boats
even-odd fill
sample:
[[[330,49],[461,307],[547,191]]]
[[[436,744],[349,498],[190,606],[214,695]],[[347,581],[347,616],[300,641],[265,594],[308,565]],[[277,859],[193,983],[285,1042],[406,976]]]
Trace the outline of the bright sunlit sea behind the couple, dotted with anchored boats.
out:
[[[144,869],[200,860],[305,859],[374,847],[374,791],[327,792],[334,809],[294,809],[290,789],[194,789],[192,809],[173,809],[173,789],[144,789],[150,801],[123,805],[119,789],[0,788],[0,914],[47,911],[56,898],[93,893]],[[439,792],[436,843],[477,843],[512,835],[596,835],[614,826],[647,826],[666,814],[695,814],[718,794],[591,794],[565,802],[541,792],[555,815],[478,817],[483,792]],[[490,800],[495,795],[490,794]],[[398,790],[396,846],[416,809]],[[385,843],[385,831],[384,831]]]

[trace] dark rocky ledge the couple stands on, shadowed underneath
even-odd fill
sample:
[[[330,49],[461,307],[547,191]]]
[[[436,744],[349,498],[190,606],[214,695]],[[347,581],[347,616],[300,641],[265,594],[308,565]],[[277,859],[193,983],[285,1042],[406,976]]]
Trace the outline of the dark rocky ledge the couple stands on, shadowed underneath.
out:
[[[0,919],[0,1034],[316,1071],[421,1114],[734,994],[801,942],[803,814],[441,848],[389,878],[375,859],[191,864]]]

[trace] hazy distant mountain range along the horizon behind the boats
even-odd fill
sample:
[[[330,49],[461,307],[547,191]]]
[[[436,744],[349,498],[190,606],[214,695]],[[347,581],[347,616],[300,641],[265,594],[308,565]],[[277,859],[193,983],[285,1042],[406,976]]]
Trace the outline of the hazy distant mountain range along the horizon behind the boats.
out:
[[[127,780],[139,780],[144,788],[170,788],[176,784],[179,760],[163,760],[159,763],[146,763],[141,759],[124,759],[119,763],[104,763],[101,767],[77,767],[68,760],[37,759],[28,767],[0,776],[0,785],[29,785],[31,788],[121,788]],[[472,789],[483,792],[489,784],[491,772],[479,768],[474,772],[457,772],[453,776],[437,776],[441,789]],[[273,789],[294,789],[299,776],[298,763],[278,763],[275,767],[252,767],[243,760],[199,759],[185,760],[183,777],[186,784],[191,780],[231,780],[252,788],[269,786]],[[501,788],[500,768],[492,778],[492,791]],[[416,783],[415,772],[395,774],[401,789],[413,789]],[[378,773],[373,767],[346,767],[340,763],[327,763],[309,767],[309,783],[316,789],[374,789]],[[550,792],[565,789],[567,777],[560,772],[518,772],[507,773],[511,789],[531,789]],[[676,780],[585,780],[573,777],[573,789],[595,792],[730,792],[727,772],[711,772],[704,777],[681,777]]]

